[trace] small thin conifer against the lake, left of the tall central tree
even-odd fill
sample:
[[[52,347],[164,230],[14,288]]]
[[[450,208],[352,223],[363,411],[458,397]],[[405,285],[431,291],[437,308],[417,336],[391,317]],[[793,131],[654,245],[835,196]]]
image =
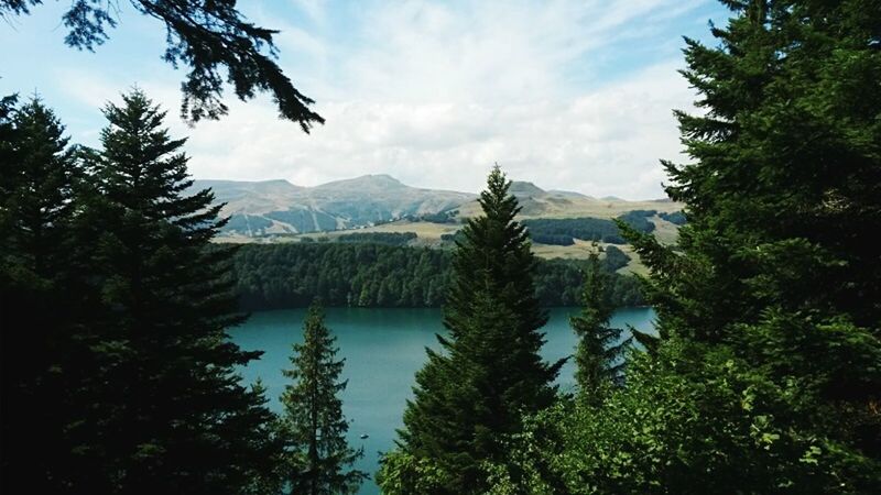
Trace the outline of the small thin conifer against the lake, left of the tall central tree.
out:
[[[313,302],[303,324],[303,343],[293,345],[292,367],[283,372],[294,382],[281,397],[291,493],[354,494],[367,477],[358,470],[346,471],[363,452],[346,442],[349,425],[338,397],[347,384],[339,381],[345,360],[336,360],[335,342],[320,305]]]

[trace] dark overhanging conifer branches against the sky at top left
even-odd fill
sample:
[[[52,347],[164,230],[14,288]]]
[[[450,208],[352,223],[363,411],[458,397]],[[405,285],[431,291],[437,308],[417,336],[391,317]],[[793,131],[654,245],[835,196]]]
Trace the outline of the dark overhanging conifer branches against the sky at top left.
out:
[[[0,16],[30,14],[42,0],[0,0]],[[268,91],[279,114],[298,122],[308,132],[324,119],[309,110],[313,101],[301,94],[273,61],[272,36],[278,31],[248,22],[232,1],[133,0],[134,9],[165,24],[167,46],[163,59],[174,67],[189,67],[181,85],[184,100],[181,114],[192,122],[218,119],[228,111],[222,101],[224,82],[233,86],[236,96],[249,100],[257,91]],[[94,51],[109,40],[107,31],[117,26],[118,6],[104,0],[74,0],[62,16],[68,32],[67,45]]]

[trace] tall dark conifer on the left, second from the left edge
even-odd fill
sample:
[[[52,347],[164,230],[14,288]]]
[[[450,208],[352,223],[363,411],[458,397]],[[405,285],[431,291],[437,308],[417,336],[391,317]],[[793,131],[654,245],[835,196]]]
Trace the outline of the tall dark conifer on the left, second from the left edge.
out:
[[[228,340],[241,321],[230,252],[208,250],[224,221],[213,195],[189,195],[185,140],[139,90],[108,105],[95,190],[80,219],[94,235],[93,403],[74,430],[100,493],[240,493],[274,455],[272,420],[236,366],[257,358]]]

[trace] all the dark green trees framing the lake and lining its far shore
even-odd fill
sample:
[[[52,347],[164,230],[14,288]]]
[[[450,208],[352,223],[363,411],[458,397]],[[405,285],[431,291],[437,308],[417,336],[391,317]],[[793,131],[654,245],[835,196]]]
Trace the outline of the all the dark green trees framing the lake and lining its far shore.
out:
[[[305,132],[324,122],[275,64],[278,32],[236,2],[132,4],[164,24],[163,62],[188,69],[188,121],[224,117],[231,86],[269,92]],[[877,494],[881,8],[722,4],[710,42],[684,41],[695,108],[674,111],[682,162],[662,161],[685,205],[675,245],[648,211],[521,222],[496,165],[450,250],[230,249],[144,90],[101,108],[94,146],[37,95],[0,98],[0,491],[355,494],[373,475],[388,495]],[[0,0],[4,19],[41,8]],[[72,47],[116,25],[112,2],[63,9]],[[611,327],[634,294],[612,272],[620,250],[541,262],[532,233],[633,245],[655,331]],[[315,296],[443,302],[377,473],[352,466],[345,360]],[[567,360],[542,358],[548,300],[580,306],[573,391],[557,385]],[[242,307],[306,304],[273,411],[240,375],[261,352],[228,330]]]

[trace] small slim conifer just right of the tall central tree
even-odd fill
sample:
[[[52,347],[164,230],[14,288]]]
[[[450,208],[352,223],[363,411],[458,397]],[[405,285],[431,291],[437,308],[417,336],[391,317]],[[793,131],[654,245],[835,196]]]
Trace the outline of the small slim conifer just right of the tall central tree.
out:
[[[614,311],[609,278],[599,262],[599,255],[591,253],[585,268],[584,309],[569,319],[569,324],[578,336],[575,381],[580,396],[595,404],[602,400],[610,385],[620,383],[623,353],[631,340],[620,341],[621,329],[609,328],[609,319]]]

